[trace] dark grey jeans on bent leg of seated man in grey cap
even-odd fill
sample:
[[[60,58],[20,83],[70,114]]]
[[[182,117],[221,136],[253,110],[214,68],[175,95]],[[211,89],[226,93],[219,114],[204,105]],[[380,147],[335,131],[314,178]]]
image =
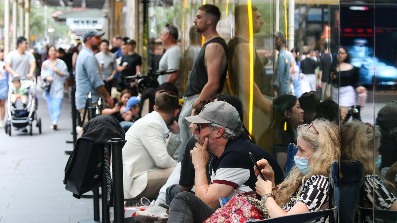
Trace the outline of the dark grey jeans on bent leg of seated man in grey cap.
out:
[[[181,192],[172,199],[168,222],[202,223],[214,212],[191,192]]]

